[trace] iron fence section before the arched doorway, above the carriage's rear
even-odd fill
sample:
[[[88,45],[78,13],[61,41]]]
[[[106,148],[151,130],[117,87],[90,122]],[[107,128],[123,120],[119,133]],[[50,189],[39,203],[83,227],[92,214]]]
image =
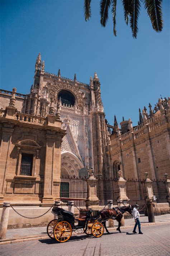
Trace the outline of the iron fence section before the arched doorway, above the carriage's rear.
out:
[[[61,178],[60,182],[60,197],[66,198],[86,198],[87,199],[87,178],[67,176]],[[67,202],[68,200],[62,200]],[[74,201],[75,206],[86,206],[86,201]]]

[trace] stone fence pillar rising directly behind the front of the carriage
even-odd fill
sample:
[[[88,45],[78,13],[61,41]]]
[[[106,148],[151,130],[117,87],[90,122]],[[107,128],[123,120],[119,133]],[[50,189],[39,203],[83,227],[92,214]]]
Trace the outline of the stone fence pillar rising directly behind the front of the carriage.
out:
[[[88,189],[88,206],[99,206],[99,198],[97,197],[97,180],[92,169],[89,170],[89,179],[87,179]]]

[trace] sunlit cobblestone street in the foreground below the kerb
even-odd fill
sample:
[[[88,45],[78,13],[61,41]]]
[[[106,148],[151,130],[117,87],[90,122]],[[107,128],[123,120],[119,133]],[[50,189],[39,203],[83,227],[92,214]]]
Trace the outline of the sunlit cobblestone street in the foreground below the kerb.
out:
[[[87,235],[73,236],[68,242],[57,243],[52,239],[14,243],[0,246],[2,256],[169,256],[170,224],[142,227],[143,235],[133,234],[132,229],[104,233],[100,238]]]

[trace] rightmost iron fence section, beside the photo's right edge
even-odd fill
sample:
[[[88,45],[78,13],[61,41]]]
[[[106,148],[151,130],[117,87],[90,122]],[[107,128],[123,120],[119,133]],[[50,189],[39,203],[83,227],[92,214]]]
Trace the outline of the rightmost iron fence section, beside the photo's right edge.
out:
[[[152,180],[153,194],[156,196],[157,203],[167,203],[168,193],[165,180]]]

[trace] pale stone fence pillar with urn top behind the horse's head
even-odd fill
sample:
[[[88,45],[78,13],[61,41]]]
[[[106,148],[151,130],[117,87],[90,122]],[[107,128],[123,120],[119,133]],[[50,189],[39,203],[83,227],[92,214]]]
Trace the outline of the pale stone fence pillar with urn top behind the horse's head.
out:
[[[119,190],[119,197],[117,199],[118,207],[124,206],[129,204],[129,198],[126,196],[126,180],[122,178],[122,171],[118,171],[119,180],[118,183],[118,190]],[[121,220],[122,226],[124,226],[124,216]]]

